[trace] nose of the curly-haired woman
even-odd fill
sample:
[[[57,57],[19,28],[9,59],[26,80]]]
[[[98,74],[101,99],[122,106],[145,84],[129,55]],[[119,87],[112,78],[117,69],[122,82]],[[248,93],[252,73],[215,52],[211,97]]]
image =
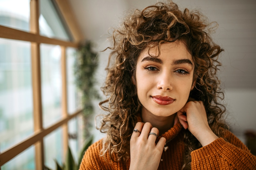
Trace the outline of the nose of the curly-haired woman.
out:
[[[163,91],[170,91],[173,89],[172,76],[170,73],[161,73],[158,77],[157,88]]]

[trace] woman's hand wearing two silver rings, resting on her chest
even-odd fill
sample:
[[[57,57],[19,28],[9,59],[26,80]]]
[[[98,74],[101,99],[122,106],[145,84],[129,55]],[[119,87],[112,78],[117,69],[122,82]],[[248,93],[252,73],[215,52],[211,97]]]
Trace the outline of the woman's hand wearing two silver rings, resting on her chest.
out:
[[[158,135],[157,128],[147,123],[138,122],[134,129],[140,132],[133,132],[130,140],[131,169],[157,169],[163,153],[165,138],[160,138],[156,144],[156,136],[149,135],[150,132]]]

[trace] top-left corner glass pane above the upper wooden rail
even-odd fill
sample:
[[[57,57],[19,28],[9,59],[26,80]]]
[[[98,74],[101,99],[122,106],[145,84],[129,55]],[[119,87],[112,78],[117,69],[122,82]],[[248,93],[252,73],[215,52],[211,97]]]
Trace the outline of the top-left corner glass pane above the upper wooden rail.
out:
[[[29,31],[30,0],[0,0],[0,25]]]

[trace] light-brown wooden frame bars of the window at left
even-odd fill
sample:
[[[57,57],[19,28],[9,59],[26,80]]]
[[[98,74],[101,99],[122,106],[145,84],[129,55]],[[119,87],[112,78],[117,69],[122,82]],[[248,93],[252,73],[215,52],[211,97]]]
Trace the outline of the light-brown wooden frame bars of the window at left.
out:
[[[31,42],[31,73],[34,116],[33,135],[0,153],[0,170],[2,165],[32,145],[35,145],[35,168],[43,170],[45,164],[43,138],[57,128],[62,127],[63,153],[65,154],[68,148],[68,121],[82,112],[82,110],[78,110],[75,113],[68,114],[67,111],[66,49],[67,47],[78,48],[78,43],[83,40],[83,36],[68,1],[52,1],[54,1],[58,6],[71,35],[73,36],[73,42],[39,35],[39,0],[30,0],[30,32],[20,31],[0,25],[0,38]],[[42,118],[40,43],[60,45],[61,47],[62,119],[46,129],[43,128]]]

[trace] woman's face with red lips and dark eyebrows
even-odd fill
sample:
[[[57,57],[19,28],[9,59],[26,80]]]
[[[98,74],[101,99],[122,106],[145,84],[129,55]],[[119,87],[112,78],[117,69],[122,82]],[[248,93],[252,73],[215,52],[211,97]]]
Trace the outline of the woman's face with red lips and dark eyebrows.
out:
[[[194,63],[181,42],[164,43],[142,51],[137,60],[136,81],[142,114],[167,117],[179,111],[193,89]]]

